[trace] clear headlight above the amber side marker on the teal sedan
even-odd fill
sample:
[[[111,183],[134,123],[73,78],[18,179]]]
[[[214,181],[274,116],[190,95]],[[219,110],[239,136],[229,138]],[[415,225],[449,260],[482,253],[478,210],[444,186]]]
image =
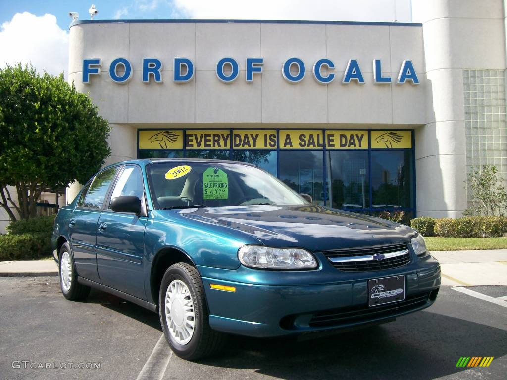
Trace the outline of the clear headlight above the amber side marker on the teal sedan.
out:
[[[317,261],[301,248],[271,248],[245,245],[238,250],[239,261],[246,267],[264,269],[314,269]]]

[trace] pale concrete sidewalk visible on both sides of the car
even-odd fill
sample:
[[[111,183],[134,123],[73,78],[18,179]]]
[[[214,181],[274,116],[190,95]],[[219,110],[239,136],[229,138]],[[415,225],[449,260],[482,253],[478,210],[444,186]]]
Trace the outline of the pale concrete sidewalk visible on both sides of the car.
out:
[[[507,285],[507,249],[431,252],[449,286]],[[0,261],[1,276],[58,276],[53,260]]]

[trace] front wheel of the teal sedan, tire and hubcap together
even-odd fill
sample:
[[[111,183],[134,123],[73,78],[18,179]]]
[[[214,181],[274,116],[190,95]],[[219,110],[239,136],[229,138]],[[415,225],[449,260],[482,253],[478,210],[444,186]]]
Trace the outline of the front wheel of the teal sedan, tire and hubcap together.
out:
[[[167,343],[182,359],[209,356],[225,343],[225,335],[209,326],[201,277],[185,262],[171,265],[162,278],[159,315]]]

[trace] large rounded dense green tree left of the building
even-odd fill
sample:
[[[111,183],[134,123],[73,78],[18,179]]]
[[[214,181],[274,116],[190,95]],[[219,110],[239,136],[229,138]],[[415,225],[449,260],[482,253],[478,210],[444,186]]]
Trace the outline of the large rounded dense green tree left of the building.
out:
[[[42,186],[86,182],[111,154],[110,128],[88,95],[32,66],[0,69],[0,205],[35,216]],[[16,189],[19,206],[9,193]]]

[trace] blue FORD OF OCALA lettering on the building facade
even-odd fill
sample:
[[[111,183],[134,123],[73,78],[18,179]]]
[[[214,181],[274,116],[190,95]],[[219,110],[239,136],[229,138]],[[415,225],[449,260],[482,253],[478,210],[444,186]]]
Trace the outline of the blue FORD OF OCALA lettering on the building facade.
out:
[[[253,82],[254,74],[262,74],[264,58],[246,58],[245,60],[245,81]],[[83,59],[83,83],[90,83],[92,75],[100,75],[102,67],[99,58]],[[317,60],[312,68],[312,75],[315,81],[326,85],[335,80],[335,64],[333,61],[322,58]],[[131,78],[134,69],[132,63],[125,58],[116,58],[109,66],[109,75],[113,82],[122,84],[127,83]],[[236,60],[230,57],[222,58],[216,64],[216,76],[224,83],[232,83],[239,77],[239,65]],[[300,82],[306,74],[306,67],[299,58],[288,58],[282,65],[281,72],[283,78],[289,83]],[[194,78],[194,63],[188,58],[174,58],[173,81],[175,83],[186,83]],[[162,62],[156,58],[144,58],[141,69],[142,82],[149,83],[162,82]],[[363,72],[357,60],[350,59],[343,74],[343,83],[357,82],[365,83]],[[379,59],[373,60],[373,82],[376,84],[389,84],[393,80],[389,76],[382,75],[382,62]],[[412,83],[419,84],[419,78],[415,71],[412,61],[405,60],[400,66],[397,84]]]

